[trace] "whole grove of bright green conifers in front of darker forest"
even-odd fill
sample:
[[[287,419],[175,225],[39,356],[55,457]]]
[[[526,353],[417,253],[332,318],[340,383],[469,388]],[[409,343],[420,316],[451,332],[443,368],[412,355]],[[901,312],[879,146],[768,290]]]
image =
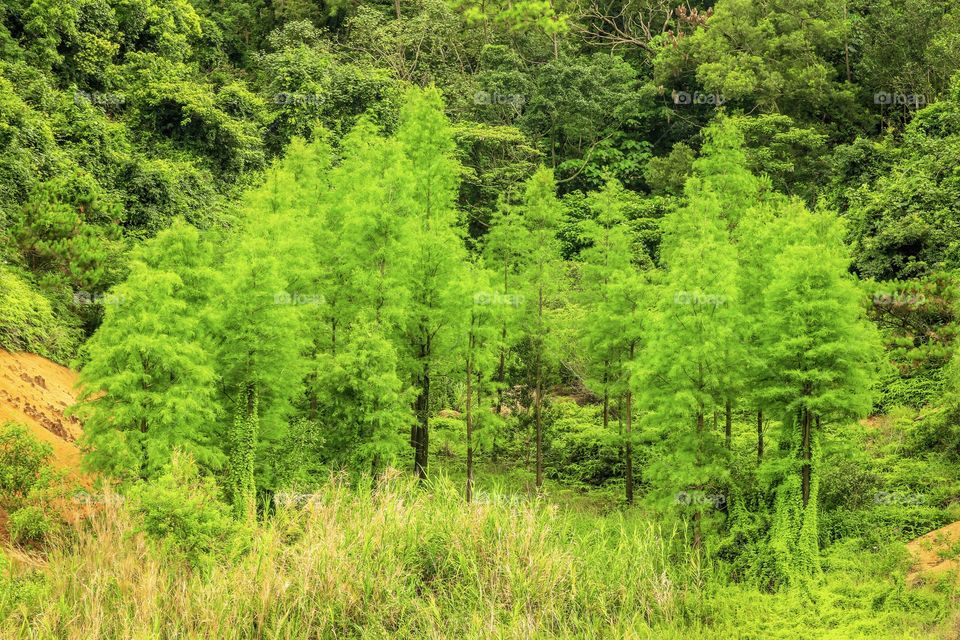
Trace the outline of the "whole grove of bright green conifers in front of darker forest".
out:
[[[617,421],[627,502],[637,476],[654,503],[723,489],[731,522],[750,507],[734,413],[755,414],[773,557],[784,575],[815,569],[819,442],[869,411],[880,341],[841,219],[751,173],[735,120],[705,139],[657,255],[609,178],[587,194],[572,257],[547,168],[467,233],[434,88],[408,91],[389,134],[361,118],[336,147],[295,140],[235,227],[178,220],[135,250],[81,357],[88,465],[149,479],[182,448],[252,519],[258,489],[325,469],[426,478],[431,424],[456,404],[470,500],[477,443],[496,455],[519,415],[542,485],[544,404],[574,380],[605,429]],[[639,442],[657,455],[637,469]],[[711,513],[689,506],[699,547]]]

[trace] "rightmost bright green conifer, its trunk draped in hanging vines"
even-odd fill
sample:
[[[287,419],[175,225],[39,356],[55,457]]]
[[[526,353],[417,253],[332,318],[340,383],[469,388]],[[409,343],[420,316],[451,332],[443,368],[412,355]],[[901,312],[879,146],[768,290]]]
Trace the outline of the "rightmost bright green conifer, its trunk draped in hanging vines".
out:
[[[784,416],[783,477],[770,532],[776,579],[819,568],[817,461],[828,423],[864,415],[881,353],[849,274],[844,228],[830,212],[794,202],[782,217],[786,247],[765,292],[773,374],[770,401]]]

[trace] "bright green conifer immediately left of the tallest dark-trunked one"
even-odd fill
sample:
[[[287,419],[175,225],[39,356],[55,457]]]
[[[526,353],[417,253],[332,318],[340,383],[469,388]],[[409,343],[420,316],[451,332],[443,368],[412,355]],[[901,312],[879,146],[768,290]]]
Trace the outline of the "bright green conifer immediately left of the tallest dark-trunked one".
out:
[[[396,461],[397,425],[410,427],[397,346],[407,290],[404,213],[409,170],[399,144],[361,119],[331,173],[315,234],[317,308],[311,415],[324,426],[328,462],[378,472]]]

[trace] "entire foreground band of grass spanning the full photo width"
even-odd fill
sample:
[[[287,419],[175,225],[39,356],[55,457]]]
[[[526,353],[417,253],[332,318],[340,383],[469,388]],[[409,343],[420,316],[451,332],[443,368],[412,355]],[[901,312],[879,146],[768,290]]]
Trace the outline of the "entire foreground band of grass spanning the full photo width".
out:
[[[763,594],[638,510],[463,503],[395,475],[278,508],[204,569],[118,501],[0,582],[4,638],[949,638],[953,594],[854,543],[808,590]]]

